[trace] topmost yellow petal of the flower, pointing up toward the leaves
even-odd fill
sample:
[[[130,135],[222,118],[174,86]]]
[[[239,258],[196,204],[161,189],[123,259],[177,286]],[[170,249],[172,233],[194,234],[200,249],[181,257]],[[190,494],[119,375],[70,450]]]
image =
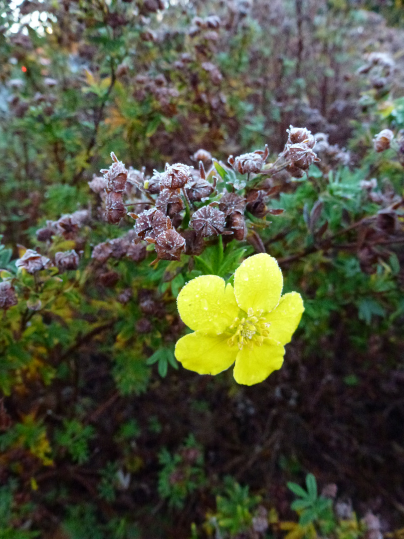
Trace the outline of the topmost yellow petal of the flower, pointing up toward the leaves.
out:
[[[283,278],[275,258],[269,254],[254,254],[247,258],[234,274],[234,293],[240,309],[263,310],[276,307],[282,292]]]

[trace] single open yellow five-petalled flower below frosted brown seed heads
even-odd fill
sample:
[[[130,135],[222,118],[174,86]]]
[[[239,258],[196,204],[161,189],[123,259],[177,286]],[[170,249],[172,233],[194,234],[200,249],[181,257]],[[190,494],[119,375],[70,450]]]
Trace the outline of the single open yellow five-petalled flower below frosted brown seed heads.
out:
[[[281,297],[283,278],[269,254],[247,258],[234,274],[234,288],[217,275],[188,282],[177,299],[183,322],[194,333],[180,338],[175,355],[185,369],[219,374],[234,362],[239,384],[262,382],[283,363],[284,344],[304,310],[301,295]]]

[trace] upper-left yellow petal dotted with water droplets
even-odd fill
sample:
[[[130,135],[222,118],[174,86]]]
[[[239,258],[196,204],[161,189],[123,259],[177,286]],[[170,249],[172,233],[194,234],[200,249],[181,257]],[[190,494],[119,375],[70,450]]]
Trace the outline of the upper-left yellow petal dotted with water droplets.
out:
[[[219,334],[231,326],[239,313],[232,285],[217,275],[201,275],[178,294],[177,307],[183,322],[194,331]]]

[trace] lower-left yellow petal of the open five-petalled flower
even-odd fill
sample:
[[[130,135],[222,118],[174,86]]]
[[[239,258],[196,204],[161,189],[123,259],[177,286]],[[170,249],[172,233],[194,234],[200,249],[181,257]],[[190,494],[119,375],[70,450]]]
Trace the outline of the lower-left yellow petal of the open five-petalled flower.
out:
[[[185,369],[199,374],[219,374],[228,369],[236,358],[238,347],[230,347],[231,334],[204,335],[196,331],[177,341],[175,356]]]

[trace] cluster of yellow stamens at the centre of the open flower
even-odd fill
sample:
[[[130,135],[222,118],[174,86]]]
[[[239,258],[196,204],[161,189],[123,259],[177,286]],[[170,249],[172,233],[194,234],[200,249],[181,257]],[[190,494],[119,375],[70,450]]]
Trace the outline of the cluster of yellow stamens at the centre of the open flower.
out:
[[[257,310],[254,313],[252,308],[248,309],[246,317],[236,317],[230,326],[230,330],[235,329],[235,333],[229,338],[227,344],[233,346],[238,344],[240,350],[243,346],[253,348],[253,345],[261,346],[264,337],[268,337],[269,322],[264,322],[263,311]]]

